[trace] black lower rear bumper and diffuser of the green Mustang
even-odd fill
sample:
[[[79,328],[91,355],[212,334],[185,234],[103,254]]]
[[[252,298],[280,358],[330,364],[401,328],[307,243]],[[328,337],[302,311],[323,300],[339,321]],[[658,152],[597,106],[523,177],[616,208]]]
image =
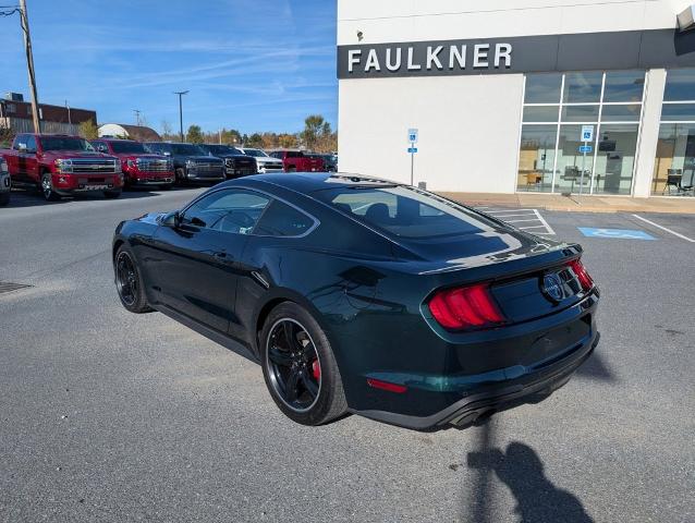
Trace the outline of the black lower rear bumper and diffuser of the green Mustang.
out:
[[[599,339],[600,335],[593,331],[587,339],[544,367],[531,369],[515,366],[502,369],[495,373],[499,379],[492,384],[490,381],[493,381],[495,378],[491,376],[468,376],[470,384],[477,381],[485,385],[473,386],[463,392],[460,399],[451,400],[448,406],[427,416],[377,410],[353,412],[365,417],[417,430],[448,424],[465,427],[492,412],[542,401],[570,380],[574,372],[593,354]],[[451,398],[451,394],[441,392],[441,396],[444,394],[447,398]]]

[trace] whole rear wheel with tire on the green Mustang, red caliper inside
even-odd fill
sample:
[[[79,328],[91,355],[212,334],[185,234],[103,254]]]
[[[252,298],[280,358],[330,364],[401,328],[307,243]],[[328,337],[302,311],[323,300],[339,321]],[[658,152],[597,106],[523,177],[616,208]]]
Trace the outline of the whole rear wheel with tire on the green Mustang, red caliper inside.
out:
[[[288,341],[288,329],[292,342]],[[292,349],[296,357],[292,356]],[[290,419],[316,426],[346,412],[348,402],[330,342],[305,308],[292,302],[273,308],[260,333],[259,352],[270,396]],[[295,384],[294,392],[291,384]]]

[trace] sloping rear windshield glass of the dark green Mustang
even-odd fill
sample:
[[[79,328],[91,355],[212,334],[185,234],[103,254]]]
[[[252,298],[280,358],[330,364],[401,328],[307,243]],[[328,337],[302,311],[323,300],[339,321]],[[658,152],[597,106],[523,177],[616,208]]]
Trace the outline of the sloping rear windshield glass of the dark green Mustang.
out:
[[[475,211],[414,187],[338,187],[317,191],[314,196],[368,226],[402,238],[452,236],[493,227]]]

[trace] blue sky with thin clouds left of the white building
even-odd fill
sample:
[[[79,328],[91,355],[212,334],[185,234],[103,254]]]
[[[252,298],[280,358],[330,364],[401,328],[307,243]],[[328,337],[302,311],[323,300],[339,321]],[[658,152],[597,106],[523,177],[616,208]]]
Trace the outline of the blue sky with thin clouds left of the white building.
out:
[[[1,4],[14,3],[0,0]],[[39,101],[161,130],[336,127],[334,0],[27,0]],[[0,93],[28,95],[19,15],[0,17]],[[28,97],[27,97],[28,99]]]

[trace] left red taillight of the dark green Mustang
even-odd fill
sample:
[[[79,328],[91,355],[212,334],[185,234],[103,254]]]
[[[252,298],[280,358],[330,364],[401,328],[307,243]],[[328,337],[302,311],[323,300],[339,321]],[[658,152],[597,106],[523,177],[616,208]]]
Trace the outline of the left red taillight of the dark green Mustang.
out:
[[[485,283],[439,291],[429,301],[429,309],[439,325],[452,330],[491,327],[505,320]]]

